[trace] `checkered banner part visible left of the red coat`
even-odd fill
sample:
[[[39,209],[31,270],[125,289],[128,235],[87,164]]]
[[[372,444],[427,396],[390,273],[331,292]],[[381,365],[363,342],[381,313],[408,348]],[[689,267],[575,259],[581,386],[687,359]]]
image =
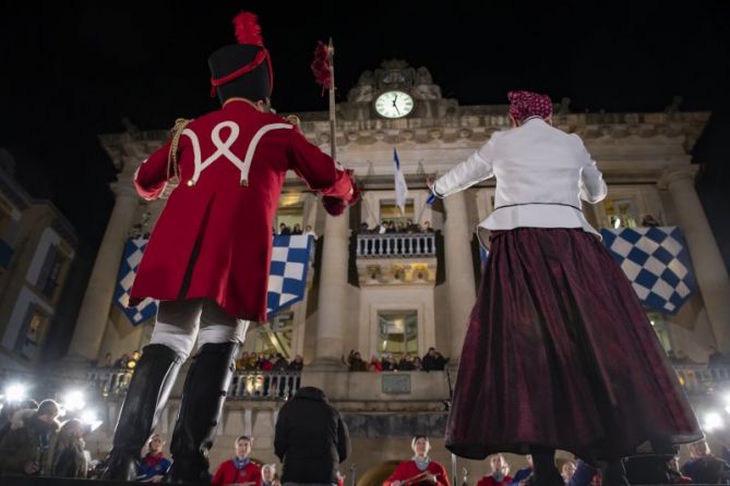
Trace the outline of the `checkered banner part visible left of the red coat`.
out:
[[[133,326],[144,323],[157,314],[157,301],[154,299],[145,299],[136,307],[128,307],[129,291],[134,282],[136,269],[142,262],[144,248],[147,247],[147,239],[145,238],[130,238],[127,240],[124,246],[124,256],[119,267],[119,278],[117,278],[117,287],[115,289],[115,304],[117,304],[124,313],[127,318]]]

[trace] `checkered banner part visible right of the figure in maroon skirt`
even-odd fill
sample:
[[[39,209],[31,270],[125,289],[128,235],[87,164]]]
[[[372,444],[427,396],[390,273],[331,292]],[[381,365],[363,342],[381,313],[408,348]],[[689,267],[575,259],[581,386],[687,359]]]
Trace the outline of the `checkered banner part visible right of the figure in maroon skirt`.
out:
[[[697,290],[678,227],[603,228],[603,244],[649,308],[675,314]]]

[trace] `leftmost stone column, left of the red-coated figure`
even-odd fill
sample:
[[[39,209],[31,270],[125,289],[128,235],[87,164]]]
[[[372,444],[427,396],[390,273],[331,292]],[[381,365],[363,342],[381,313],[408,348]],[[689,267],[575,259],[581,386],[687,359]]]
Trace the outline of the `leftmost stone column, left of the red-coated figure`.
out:
[[[127,233],[134,221],[140,198],[131,179],[119,178],[111,190],[117,196],[104,240],[88,279],[68,356],[96,360],[104,338],[117,284],[117,272],[124,252]]]

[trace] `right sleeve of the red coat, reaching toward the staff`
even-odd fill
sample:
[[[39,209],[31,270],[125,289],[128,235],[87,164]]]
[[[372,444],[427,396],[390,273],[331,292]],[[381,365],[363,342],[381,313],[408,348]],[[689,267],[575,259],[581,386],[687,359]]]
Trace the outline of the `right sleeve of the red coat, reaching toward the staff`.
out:
[[[298,131],[291,130],[291,168],[311,190],[325,196],[350,201],[352,183],[349,174],[337,168],[332,157],[307,142]]]

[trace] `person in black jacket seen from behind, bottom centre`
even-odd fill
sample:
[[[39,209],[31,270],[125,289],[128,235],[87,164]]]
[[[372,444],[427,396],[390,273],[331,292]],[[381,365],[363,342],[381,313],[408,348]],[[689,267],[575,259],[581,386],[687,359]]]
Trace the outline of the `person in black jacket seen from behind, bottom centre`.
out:
[[[282,406],[274,452],[284,463],[283,484],[337,484],[337,464],[349,451],[347,426],[319,388],[300,388]]]

